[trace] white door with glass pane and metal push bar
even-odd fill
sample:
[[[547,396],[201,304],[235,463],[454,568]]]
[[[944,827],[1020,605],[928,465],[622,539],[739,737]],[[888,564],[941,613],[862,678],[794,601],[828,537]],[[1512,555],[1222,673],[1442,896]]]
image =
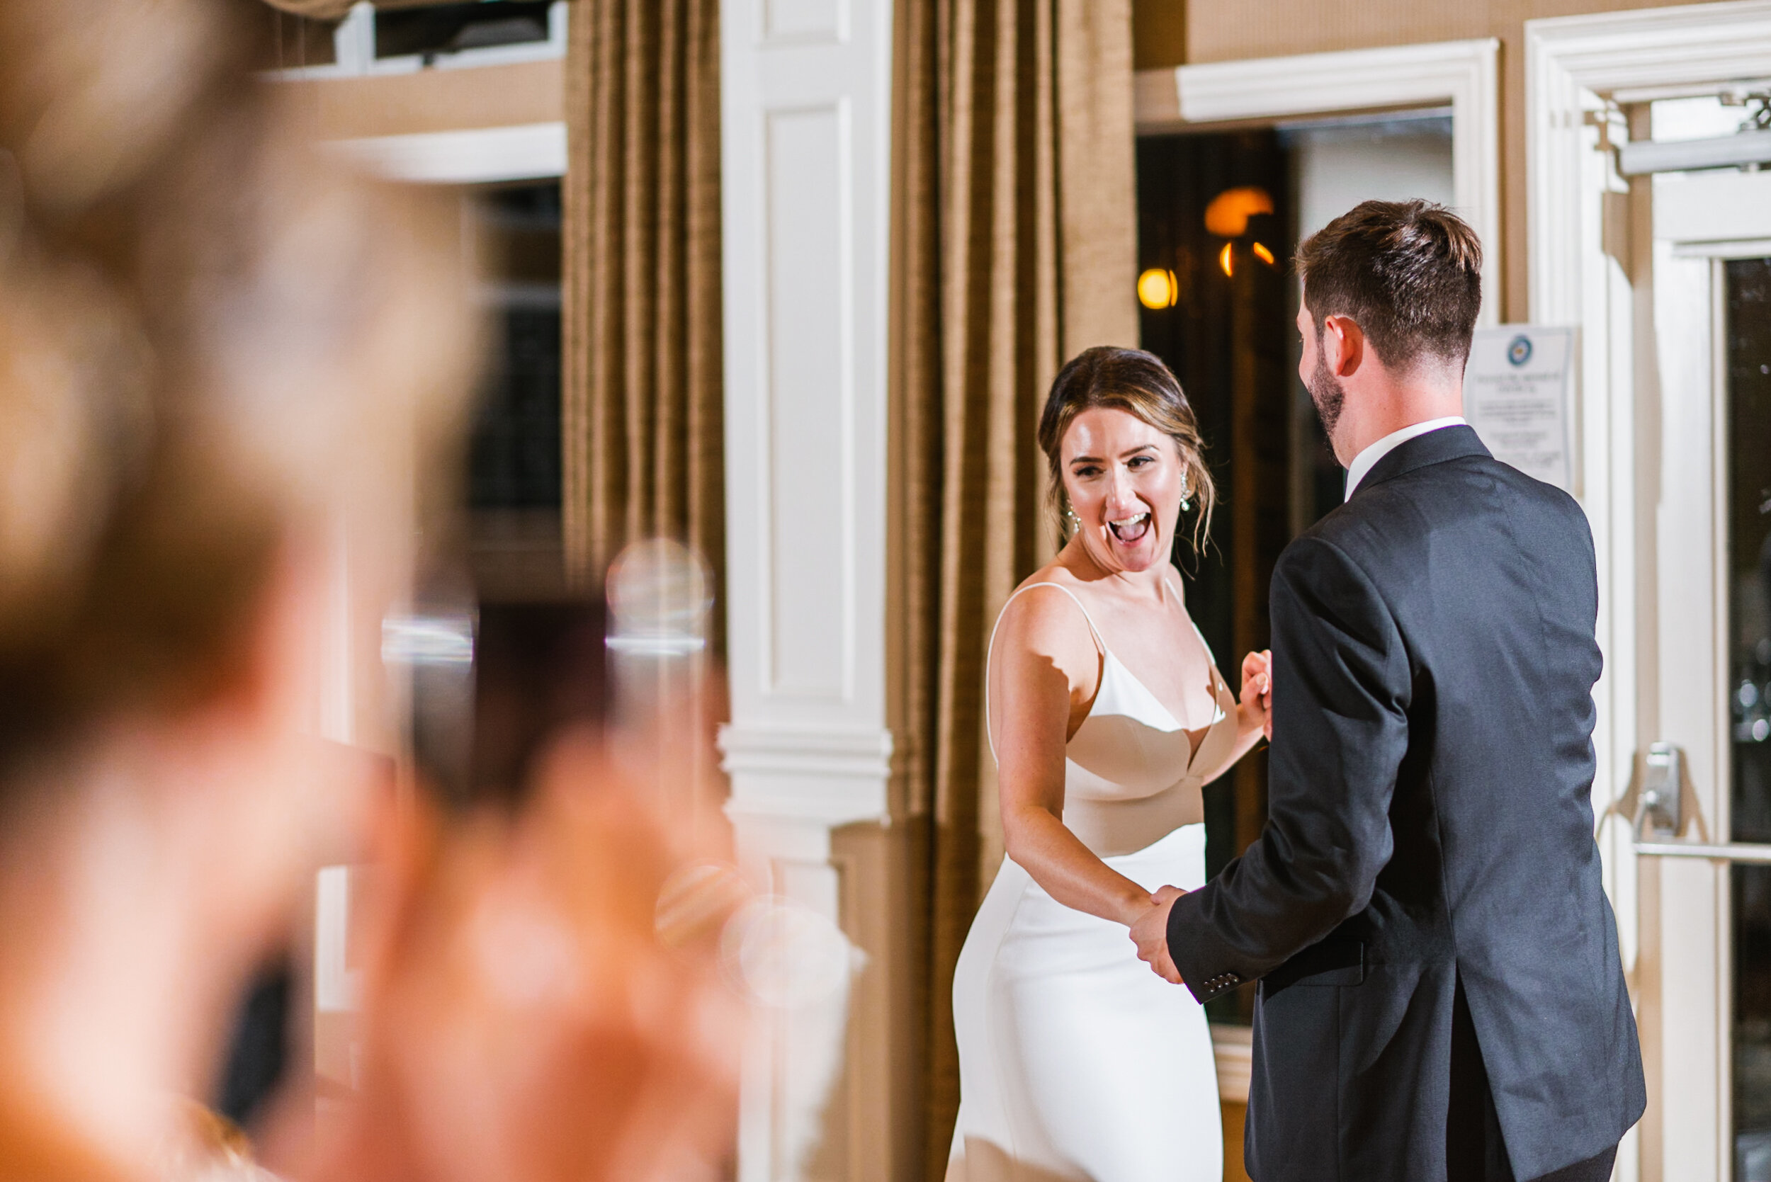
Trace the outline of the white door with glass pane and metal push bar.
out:
[[[1647,182],[1642,1177],[1771,1182],[1771,172]]]

